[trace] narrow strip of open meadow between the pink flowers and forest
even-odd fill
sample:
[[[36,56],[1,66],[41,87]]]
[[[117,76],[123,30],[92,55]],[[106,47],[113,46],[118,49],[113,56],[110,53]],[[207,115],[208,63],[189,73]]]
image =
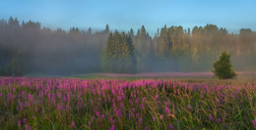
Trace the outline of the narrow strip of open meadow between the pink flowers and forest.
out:
[[[82,79],[165,79],[178,80],[182,82],[207,83],[209,85],[246,85],[248,83],[256,84],[256,72],[238,71],[234,79],[218,79],[214,77],[213,72],[145,72],[136,74],[124,73],[89,73],[73,75],[70,77]]]

